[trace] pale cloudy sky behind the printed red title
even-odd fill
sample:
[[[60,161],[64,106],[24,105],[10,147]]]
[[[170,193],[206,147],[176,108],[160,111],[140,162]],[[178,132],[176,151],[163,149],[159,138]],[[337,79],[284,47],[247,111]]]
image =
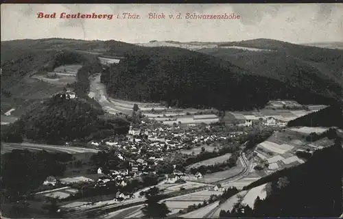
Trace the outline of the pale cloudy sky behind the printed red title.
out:
[[[37,18],[37,13],[57,18]],[[113,19],[61,19],[67,14],[114,14]],[[139,19],[117,14],[139,14]],[[149,13],[165,14],[150,19]],[[182,18],[176,15],[181,13]],[[239,19],[187,19],[187,13]],[[173,14],[174,18],[169,18]],[[38,38],[149,42],[224,42],[270,38],[292,43],[343,42],[343,4],[1,4],[1,41]]]

